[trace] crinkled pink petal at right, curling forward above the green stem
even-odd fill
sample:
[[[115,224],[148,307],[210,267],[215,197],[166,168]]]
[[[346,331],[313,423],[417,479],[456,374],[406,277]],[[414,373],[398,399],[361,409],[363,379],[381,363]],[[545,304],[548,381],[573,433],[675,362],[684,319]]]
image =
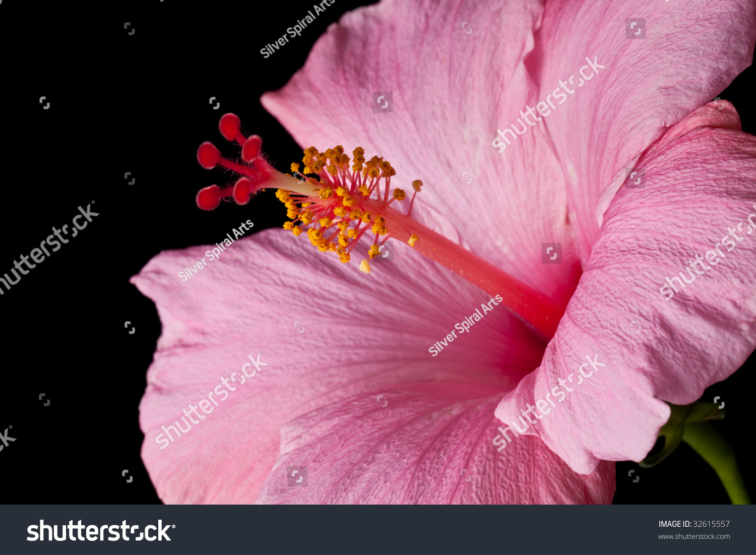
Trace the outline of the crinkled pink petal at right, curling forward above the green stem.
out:
[[[580,386],[568,383],[575,391],[527,432],[576,472],[592,472],[600,459],[643,459],[669,417],[662,400],[696,401],[756,347],[756,235],[748,225],[751,217],[756,226],[756,138],[736,130],[731,104],[716,104],[640,159],[645,188],[616,194],[541,367],[496,410],[511,423],[527,403],[547,401],[559,378],[578,381],[586,357],[606,364]],[[710,270],[665,301],[665,277],[714,250],[728,228],[742,242],[730,239],[731,253],[720,246],[725,258],[705,260]]]

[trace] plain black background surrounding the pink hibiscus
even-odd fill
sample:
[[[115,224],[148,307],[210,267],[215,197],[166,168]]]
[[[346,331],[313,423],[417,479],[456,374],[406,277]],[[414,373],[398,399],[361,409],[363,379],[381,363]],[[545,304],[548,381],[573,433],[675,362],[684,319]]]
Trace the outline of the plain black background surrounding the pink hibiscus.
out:
[[[277,169],[299,161],[301,149],[259,97],[283,86],[327,25],[360,4],[337,0],[267,60],[259,49],[311,0],[265,3],[265,11],[259,2],[0,4],[0,271],[52,226],[70,225],[77,206],[95,201],[100,214],[0,297],[0,431],[13,426],[17,438],[0,452],[2,502],[160,503],[141,463],[138,426],[160,320],[129,277],[160,251],[214,243],[243,220],[254,231],[286,221],[272,191],[243,207],[197,209],[200,188],[226,183],[197,165],[197,146],[228,147],[217,123],[231,111],[245,132],[262,136]],[[720,95],[751,133],[752,74]],[[751,356],[703,397],[727,404],[727,418],[714,426],[735,448],[751,495],[753,366]],[[728,502],[714,471],[687,445],[652,469],[617,464],[615,503]]]

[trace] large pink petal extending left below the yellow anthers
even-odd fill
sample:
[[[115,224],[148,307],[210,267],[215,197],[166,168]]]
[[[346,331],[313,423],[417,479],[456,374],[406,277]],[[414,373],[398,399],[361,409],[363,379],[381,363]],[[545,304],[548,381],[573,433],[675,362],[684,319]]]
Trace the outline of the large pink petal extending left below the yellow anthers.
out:
[[[541,360],[544,346],[503,307],[432,357],[429,346],[488,296],[406,245],[366,275],[306,237],[268,230],[182,282],[178,272],[205,250],[161,253],[132,278],[163,322],[140,411],[142,458],[166,503],[254,501],[279,454],[280,426],[321,405],[399,381],[506,392]],[[262,350],[269,366],[260,374],[175,442],[156,442],[161,426],[175,426],[221,376],[240,380],[247,355]]]

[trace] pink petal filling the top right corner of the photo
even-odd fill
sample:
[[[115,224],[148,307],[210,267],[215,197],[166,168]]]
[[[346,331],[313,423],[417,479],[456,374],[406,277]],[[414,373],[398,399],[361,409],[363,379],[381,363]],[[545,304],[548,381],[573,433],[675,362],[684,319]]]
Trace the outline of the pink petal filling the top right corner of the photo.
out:
[[[626,20],[635,18],[645,20],[645,39],[627,39]],[[575,76],[575,86],[567,85],[575,94],[544,122],[567,178],[583,265],[625,169],[751,65],[754,40],[751,0],[546,3],[528,66],[540,76],[539,100],[559,87],[559,79]],[[585,57],[606,69],[594,74]],[[578,88],[582,67],[593,77]]]

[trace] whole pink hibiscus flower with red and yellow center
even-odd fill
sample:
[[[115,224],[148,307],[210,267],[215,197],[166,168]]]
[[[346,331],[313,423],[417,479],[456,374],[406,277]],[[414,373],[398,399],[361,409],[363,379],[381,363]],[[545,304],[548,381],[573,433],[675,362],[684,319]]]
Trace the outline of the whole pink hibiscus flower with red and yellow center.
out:
[[[309,244],[323,234],[267,230],[132,278],[163,322],[141,403],[160,498],[609,503],[610,461],[646,456],[665,401],[695,401],[756,346],[756,141],[729,103],[706,104],[748,66],[753,23],[743,0],[345,14],[263,104],[302,147],[364,147],[407,191],[420,178],[413,219],[402,194],[386,208],[387,180],[360,191],[338,149],[314,194],[246,141],[250,181],[222,194],[312,194],[290,215],[323,228],[327,206],[353,223],[370,208],[371,231],[414,246],[365,274],[339,261],[367,258],[362,228],[339,256]],[[175,277],[203,257],[212,277]]]

